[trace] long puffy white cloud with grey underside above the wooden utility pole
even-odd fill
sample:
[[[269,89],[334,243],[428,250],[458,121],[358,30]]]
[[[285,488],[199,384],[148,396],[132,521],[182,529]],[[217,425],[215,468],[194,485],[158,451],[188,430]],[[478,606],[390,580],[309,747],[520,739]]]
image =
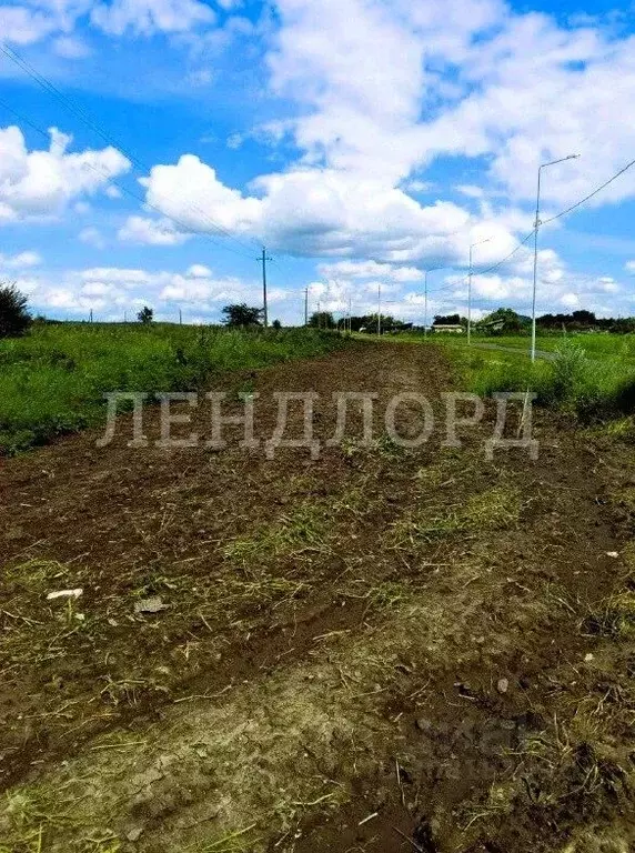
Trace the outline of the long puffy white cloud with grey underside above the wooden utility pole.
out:
[[[456,253],[448,235],[471,225],[470,213],[452,202],[423,207],[390,183],[336,170],[262,175],[252,185],[258,194],[245,195],[187,154],[154,167],[142,183],[149,204],[194,232],[229,231],[304,257],[448,261]]]

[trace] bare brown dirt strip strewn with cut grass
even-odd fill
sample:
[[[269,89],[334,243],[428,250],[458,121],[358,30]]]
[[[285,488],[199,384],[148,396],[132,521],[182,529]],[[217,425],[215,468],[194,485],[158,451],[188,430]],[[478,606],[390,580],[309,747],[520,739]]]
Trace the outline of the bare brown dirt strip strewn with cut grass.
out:
[[[537,461],[488,462],[491,413],[442,448],[452,381],[356,343],[222,384],[268,435],[316,392],[322,440],[333,392],[376,393],[372,446],[360,415],[315,460],[236,426],[2,463],[2,853],[632,849],[632,451],[542,415]],[[379,415],[422,391],[400,448]]]

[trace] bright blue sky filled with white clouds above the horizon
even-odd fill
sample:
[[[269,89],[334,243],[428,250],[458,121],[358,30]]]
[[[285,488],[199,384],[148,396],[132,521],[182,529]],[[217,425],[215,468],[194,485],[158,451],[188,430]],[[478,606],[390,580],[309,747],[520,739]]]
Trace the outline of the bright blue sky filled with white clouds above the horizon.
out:
[[[0,280],[50,317],[216,321],[265,243],[284,322],[306,287],[422,322],[433,268],[430,315],[465,313],[470,244],[477,272],[517,247],[540,163],[581,155],[547,219],[633,159],[633,30],[575,0],[0,2]],[[635,314],[634,214],[635,168],[545,225],[538,309]],[[527,313],[532,263],[476,274],[475,314]]]

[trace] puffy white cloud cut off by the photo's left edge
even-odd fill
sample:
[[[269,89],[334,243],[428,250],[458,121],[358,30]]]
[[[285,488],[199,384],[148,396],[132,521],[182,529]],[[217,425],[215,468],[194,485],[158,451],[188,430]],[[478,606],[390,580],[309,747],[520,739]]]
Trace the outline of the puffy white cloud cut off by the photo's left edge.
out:
[[[130,168],[117,149],[68,149],[72,137],[51,128],[48,150],[29,151],[22,131],[0,128],[0,224],[59,215],[68,203],[92,195]]]

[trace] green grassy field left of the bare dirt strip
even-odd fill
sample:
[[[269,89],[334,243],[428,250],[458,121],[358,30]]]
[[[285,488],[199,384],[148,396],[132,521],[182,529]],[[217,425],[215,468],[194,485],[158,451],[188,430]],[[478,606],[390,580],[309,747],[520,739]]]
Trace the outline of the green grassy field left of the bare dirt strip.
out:
[[[94,423],[108,391],[191,390],[220,372],[309,358],[341,344],[302,330],[168,323],[39,325],[0,341],[0,454]]]

